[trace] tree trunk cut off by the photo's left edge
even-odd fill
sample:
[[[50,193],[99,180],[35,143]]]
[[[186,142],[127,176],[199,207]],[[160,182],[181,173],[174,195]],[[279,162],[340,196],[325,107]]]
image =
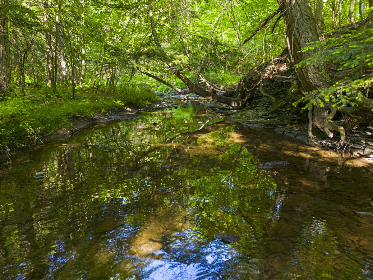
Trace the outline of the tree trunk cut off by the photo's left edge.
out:
[[[6,0],[0,0],[5,4]],[[1,5],[0,5],[1,6]],[[9,40],[6,17],[0,18],[0,94],[8,88],[9,82]]]

